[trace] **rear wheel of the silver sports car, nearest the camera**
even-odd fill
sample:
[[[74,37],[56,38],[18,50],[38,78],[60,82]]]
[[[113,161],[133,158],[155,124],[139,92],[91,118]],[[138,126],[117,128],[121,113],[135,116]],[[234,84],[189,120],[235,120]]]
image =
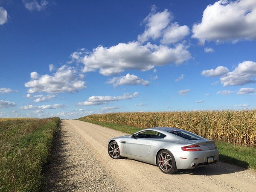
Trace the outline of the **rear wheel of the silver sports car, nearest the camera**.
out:
[[[168,150],[162,150],[157,155],[157,166],[161,172],[172,174],[177,172],[176,161],[172,153]]]

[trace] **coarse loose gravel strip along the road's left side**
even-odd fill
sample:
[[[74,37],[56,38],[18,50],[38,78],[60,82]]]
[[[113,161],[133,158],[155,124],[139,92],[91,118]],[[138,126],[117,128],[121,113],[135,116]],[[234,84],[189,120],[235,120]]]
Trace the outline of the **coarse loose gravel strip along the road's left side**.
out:
[[[61,121],[50,162],[44,168],[42,191],[121,191],[92,150],[73,130],[72,123]]]

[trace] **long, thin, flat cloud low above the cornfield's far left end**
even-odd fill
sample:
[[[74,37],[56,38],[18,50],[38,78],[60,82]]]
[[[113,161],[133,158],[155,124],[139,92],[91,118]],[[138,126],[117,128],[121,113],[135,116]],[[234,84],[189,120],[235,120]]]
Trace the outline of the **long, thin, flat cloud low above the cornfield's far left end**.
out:
[[[79,102],[77,105],[103,105],[108,104],[111,101],[119,101],[124,99],[132,99],[134,97],[137,97],[139,95],[138,92],[135,92],[133,94],[125,93],[122,96],[90,96],[89,99],[85,102]]]

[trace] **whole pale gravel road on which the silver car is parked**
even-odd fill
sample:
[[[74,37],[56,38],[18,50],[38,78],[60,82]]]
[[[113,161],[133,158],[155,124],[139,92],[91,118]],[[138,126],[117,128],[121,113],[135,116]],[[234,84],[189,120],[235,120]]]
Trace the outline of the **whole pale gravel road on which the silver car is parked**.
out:
[[[255,191],[256,172],[227,163],[174,175],[157,166],[108,156],[108,140],[120,131],[62,120],[43,191]]]

